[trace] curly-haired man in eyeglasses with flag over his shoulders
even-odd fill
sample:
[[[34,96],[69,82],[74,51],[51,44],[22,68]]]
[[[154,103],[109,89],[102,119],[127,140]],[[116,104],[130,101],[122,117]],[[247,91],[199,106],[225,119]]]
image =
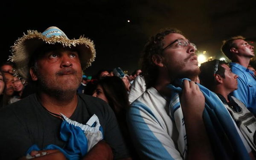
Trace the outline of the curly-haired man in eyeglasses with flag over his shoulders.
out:
[[[141,159],[250,159],[219,98],[190,80],[200,73],[196,50],[176,29],[152,36],[145,45],[147,90],[127,114]]]

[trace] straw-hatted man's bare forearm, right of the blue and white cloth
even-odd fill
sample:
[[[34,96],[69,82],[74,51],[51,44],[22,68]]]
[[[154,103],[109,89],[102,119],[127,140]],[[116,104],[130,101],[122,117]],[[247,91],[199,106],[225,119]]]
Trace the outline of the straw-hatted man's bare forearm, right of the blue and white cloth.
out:
[[[113,160],[112,149],[107,143],[100,141],[82,160]]]

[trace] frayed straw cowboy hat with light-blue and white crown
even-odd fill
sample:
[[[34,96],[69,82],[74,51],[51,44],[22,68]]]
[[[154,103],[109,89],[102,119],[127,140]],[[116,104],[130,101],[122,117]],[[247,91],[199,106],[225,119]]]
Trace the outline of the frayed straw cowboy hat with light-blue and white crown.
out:
[[[61,44],[64,47],[76,47],[79,52],[81,67],[84,70],[94,61],[96,51],[93,41],[80,36],[79,39],[68,39],[66,34],[57,27],[49,27],[43,33],[29,30],[12,46],[9,60],[15,63],[15,74],[23,82],[29,78],[29,61],[35,50],[45,44]]]

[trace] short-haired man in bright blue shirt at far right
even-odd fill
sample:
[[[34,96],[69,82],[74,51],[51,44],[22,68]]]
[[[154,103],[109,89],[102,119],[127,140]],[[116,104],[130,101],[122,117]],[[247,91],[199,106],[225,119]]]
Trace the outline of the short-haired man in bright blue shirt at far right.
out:
[[[250,59],[254,57],[254,47],[244,39],[242,36],[236,36],[224,41],[221,51],[232,61],[232,72],[239,76],[238,89],[232,93],[233,96],[256,115],[256,78],[254,73],[247,69]]]

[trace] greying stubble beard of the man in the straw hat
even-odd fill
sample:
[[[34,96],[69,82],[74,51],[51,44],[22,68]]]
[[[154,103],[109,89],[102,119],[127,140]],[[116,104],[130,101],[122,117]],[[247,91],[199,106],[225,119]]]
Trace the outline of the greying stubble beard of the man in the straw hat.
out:
[[[76,90],[81,84],[82,73],[78,73],[76,70],[72,69],[73,74],[75,75],[75,79],[69,83],[60,83],[55,77],[62,76],[62,71],[55,73],[54,78],[49,78],[40,73],[37,74],[38,77],[38,87],[39,90],[51,95],[57,99],[71,99],[74,95],[76,95]],[[67,77],[68,79],[69,77]]]

